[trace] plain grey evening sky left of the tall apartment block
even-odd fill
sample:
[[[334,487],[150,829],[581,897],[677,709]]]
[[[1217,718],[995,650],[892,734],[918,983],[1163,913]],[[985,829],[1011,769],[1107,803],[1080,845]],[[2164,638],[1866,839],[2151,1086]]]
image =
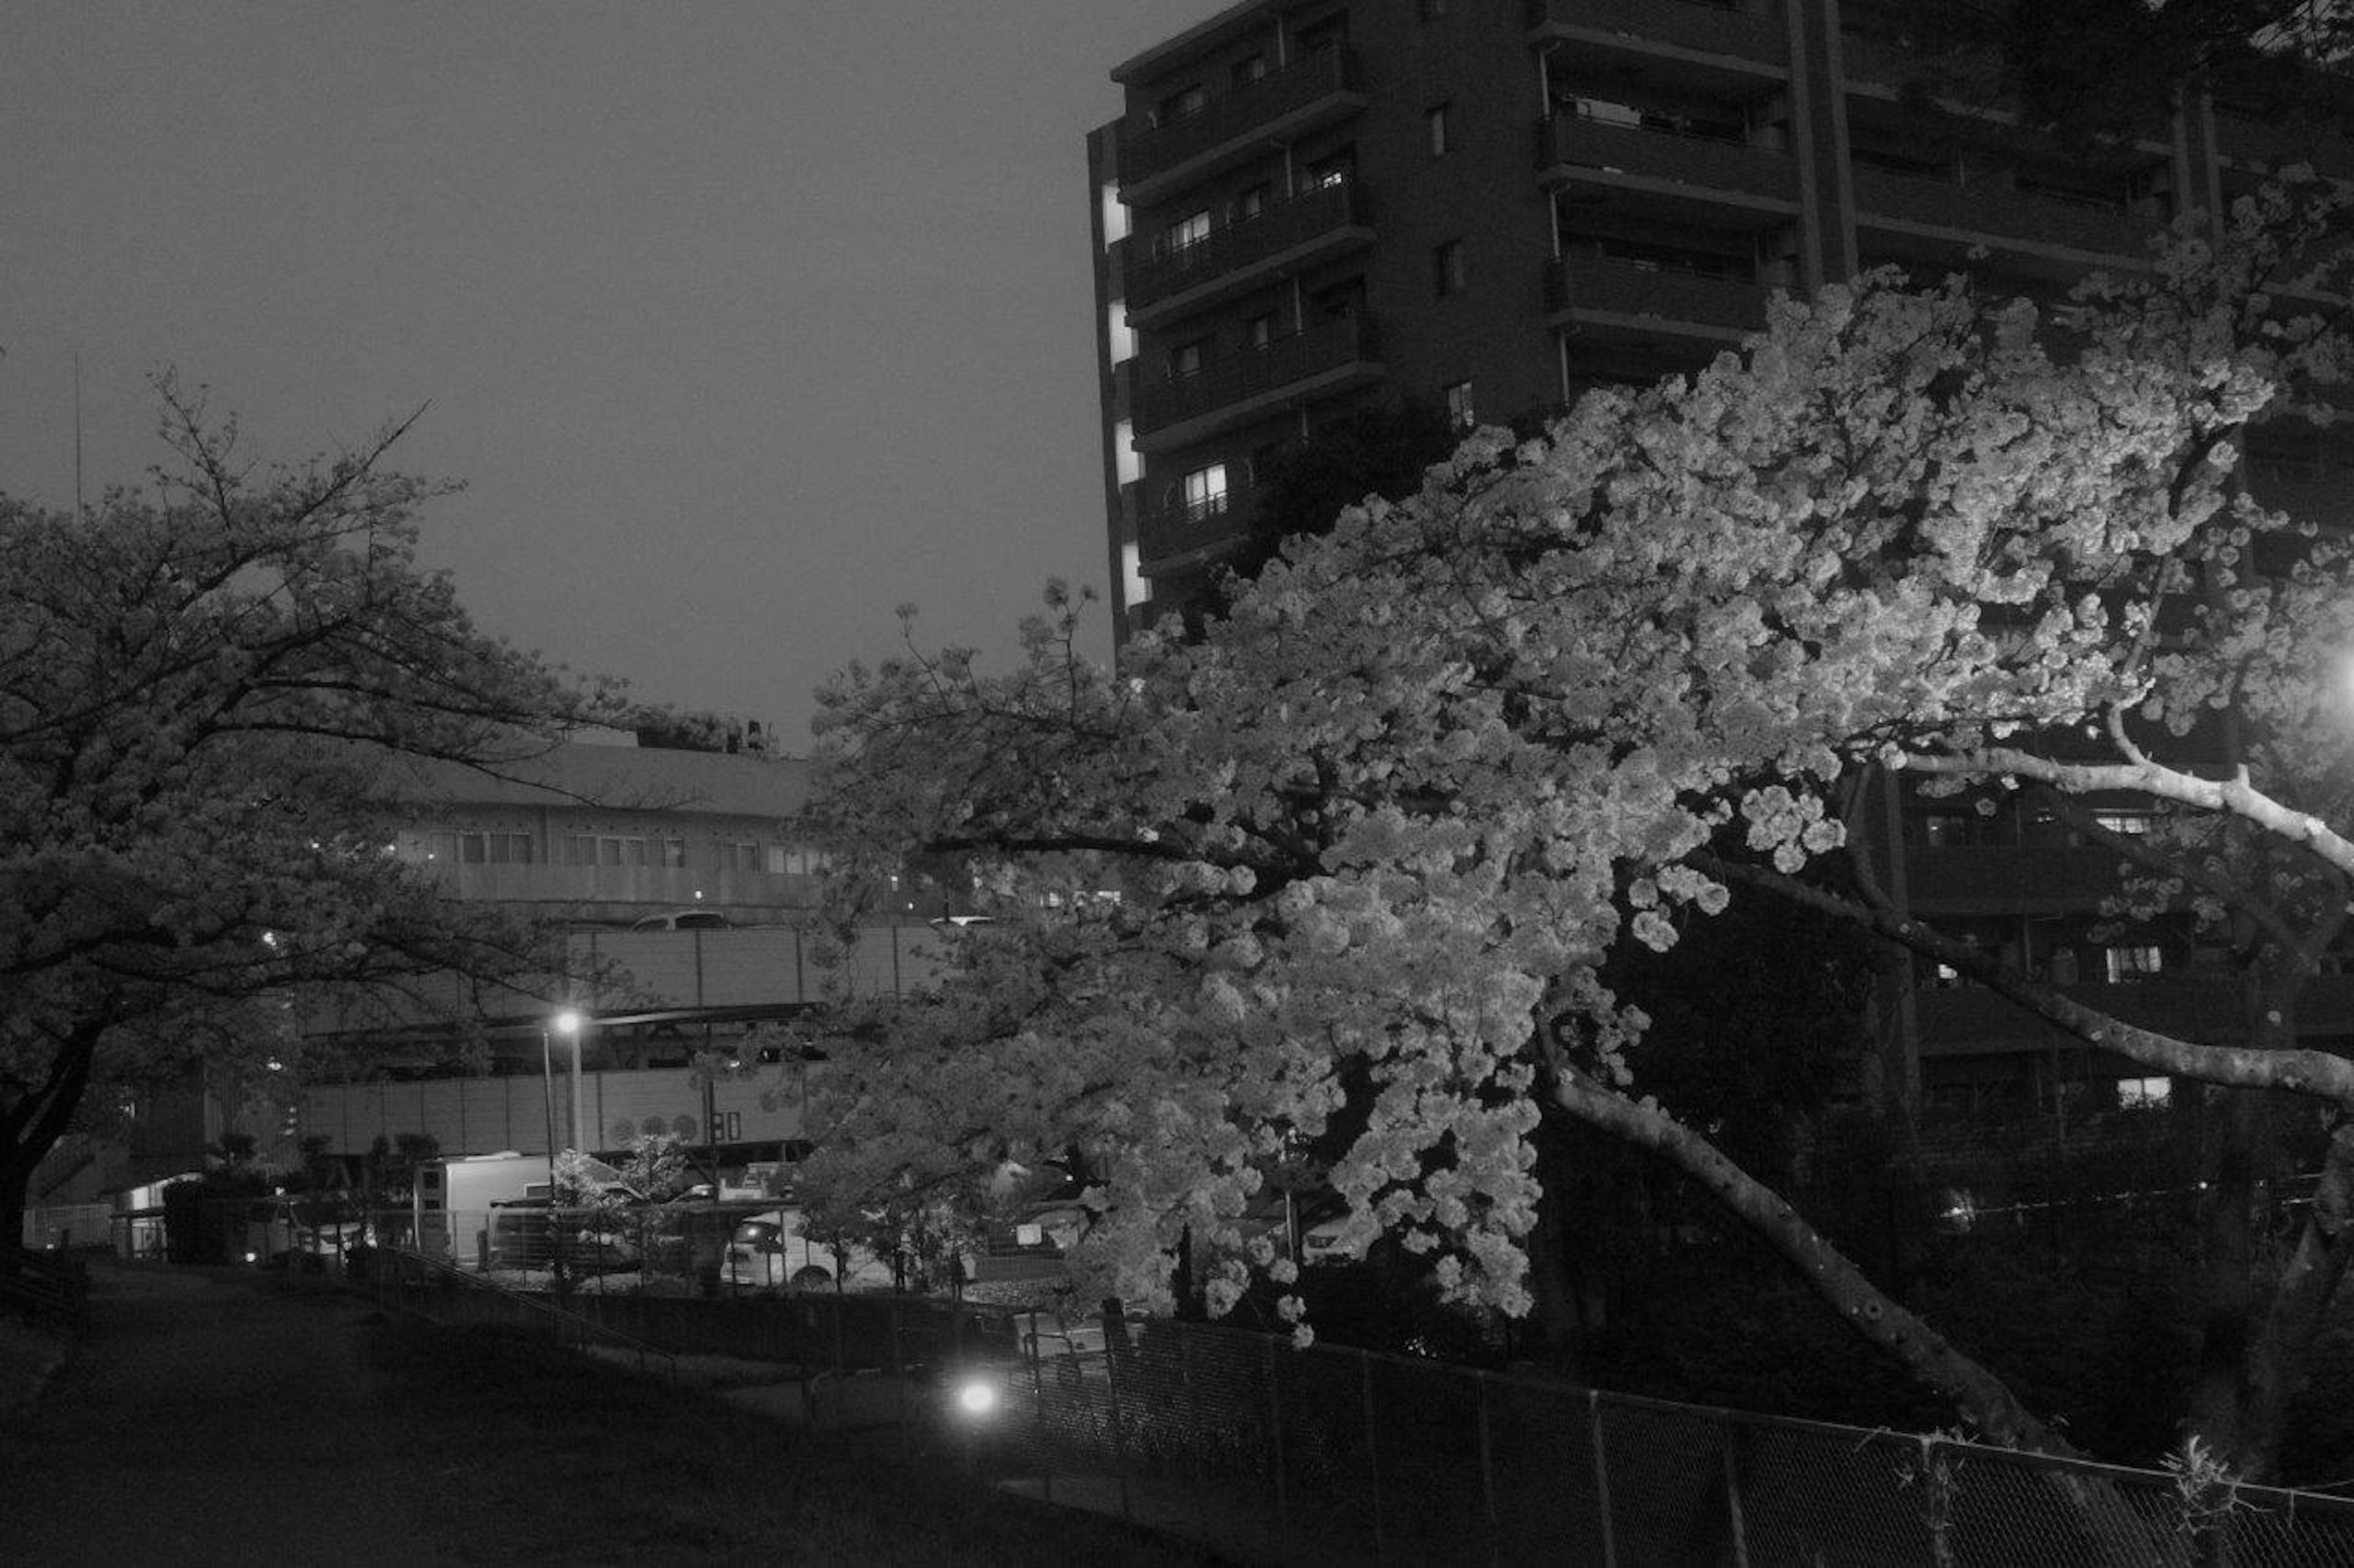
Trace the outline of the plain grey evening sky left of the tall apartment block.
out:
[[[1104,589],[1083,137],[1215,0],[0,7],[0,490],[162,457],[177,367],[290,459],[466,480],[476,619],[765,718]],[[1095,619],[1095,652],[1109,624]]]

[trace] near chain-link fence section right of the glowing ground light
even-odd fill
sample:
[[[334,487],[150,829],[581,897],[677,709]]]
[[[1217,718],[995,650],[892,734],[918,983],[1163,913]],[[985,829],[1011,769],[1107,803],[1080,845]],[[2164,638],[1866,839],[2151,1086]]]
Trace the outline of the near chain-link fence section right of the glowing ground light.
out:
[[[2354,1502],[1191,1323],[1024,1323],[993,1479],[1262,1561],[2354,1563]]]

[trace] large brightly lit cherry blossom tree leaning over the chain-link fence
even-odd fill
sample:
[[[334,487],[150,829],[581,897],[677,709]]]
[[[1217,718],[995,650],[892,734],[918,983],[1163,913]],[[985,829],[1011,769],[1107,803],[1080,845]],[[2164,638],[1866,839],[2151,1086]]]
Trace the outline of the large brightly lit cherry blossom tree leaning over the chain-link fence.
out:
[[[1980,1434],[2064,1448],[1645,1092],[1648,1019],[1605,949],[1773,888],[2149,1071],[2309,1097],[2340,1130],[2295,1290],[2326,1300],[2354,1245],[2354,1062],[2288,1022],[2128,1029],[1999,968],[1878,899],[1850,822],[1883,770],[2133,789],[2182,838],[2121,897],[2196,899],[2260,970],[2309,972],[2354,869],[2328,826],[2354,593],[2342,546],[2234,476],[2253,419],[2340,377],[2335,323],[2274,292],[2333,221],[2274,188],[2055,308],[1890,275],[1780,301],[1702,374],[1474,436],[1417,497],[1292,542],[1198,640],[1090,669],[1057,589],[1012,673],[963,650],[850,669],[819,720],[859,850],[845,911],[920,845],[975,857],[1000,923],[953,984],[840,1041],[812,1090],[819,1201],[1069,1156],[1109,1290],[1165,1302],[1189,1238],[1224,1309],[1252,1269],[1290,1278],[1250,1201],[1346,1104],[1346,1243],[1389,1234],[1457,1300],[1523,1311],[1530,1132],[1568,1116],[1700,1182]],[[2272,904],[2248,857],[2288,878]]]

